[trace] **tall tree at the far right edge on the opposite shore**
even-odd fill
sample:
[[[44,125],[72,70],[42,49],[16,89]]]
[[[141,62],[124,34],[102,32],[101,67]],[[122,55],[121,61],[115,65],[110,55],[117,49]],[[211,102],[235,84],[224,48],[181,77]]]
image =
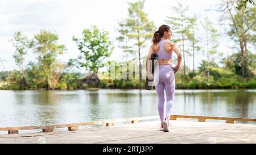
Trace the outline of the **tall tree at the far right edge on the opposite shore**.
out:
[[[255,49],[256,47],[256,7],[249,7],[247,10],[244,7],[241,7],[240,11],[234,11],[236,10],[234,5],[239,2],[240,1],[224,0],[220,4],[220,10],[222,10],[222,12],[227,12],[229,16],[228,19],[231,21],[229,24],[230,31],[228,32],[228,35],[238,43],[238,51],[241,53],[241,73],[242,77],[245,78],[249,45],[252,45],[251,49]],[[223,16],[221,18],[223,18]]]

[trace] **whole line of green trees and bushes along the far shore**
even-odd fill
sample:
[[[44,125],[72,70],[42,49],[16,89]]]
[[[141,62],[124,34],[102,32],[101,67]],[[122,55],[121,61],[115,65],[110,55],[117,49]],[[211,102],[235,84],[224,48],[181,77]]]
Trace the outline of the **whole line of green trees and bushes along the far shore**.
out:
[[[98,79],[96,73],[100,64],[112,55],[114,45],[109,33],[97,26],[86,28],[82,37],[73,36],[80,55],[63,64],[57,56],[67,51],[59,43],[59,35],[49,30],[41,30],[33,38],[15,32],[11,43],[15,48],[14,59],[18,69],[0,72],[2,89],[80,89],[82,87],[118,87],[143,88],[142,64],[146,61],[148,42],[156,26],[147,18],[145,1],[128,2],[128,16],[118,22],[115,39],[119,41],[125,61],[129,64],[138,59],[139,81]],[[251,3],[251,2],[250,2]],[[214,24],[209,18],[198,21],[189,14],[189,7],[184,3],[172,6],[172,15],[166,16],[165,22],[172,28],[174,41],[183,53],[183,67],[176,73],[177,88],[255,88],[255,43],[256,43],[256,7],[244,7],[242,1],[222,0],[217,11],[220,21],[228,24]],[[235,12],[234,12],[235,10]],[[200,27],[201,26],[201,27]],[[234,41],[233,54],[224,56],[225,51],[218,51],[221,34],[218,27],[226,28],[226,35]],[[200,28],[200,30],[199,30]],[[199,36],[198,33],[204,35]],[[28,52],[36,56],[36,61],[24,64]],[[196,56],[205,58],[195,68]],[[0,59],[1,60],[1,59]],[[192,69],[187,62],[192,61]],[[3,60],[1,60],[3,62]],[[72,68],[85,68],[89,74],[73,72]]]

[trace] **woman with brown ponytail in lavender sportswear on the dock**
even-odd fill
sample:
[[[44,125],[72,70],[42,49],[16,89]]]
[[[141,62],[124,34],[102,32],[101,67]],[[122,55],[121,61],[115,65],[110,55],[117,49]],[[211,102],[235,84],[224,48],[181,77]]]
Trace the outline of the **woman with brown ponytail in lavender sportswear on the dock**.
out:
[[[169,132],[169,118],[172,105],[174,104],[175,77],[181,64],[182,56],[176,44],[171,42],[172,32],[170,26],[162,25],[155,31],[152,39],[153,44],[148,52],[147,60],[153,52],[158,55],[158,73],[154,74],[154,84],[158,96],[158,112],[161,121],[160,129]],[[172,53],[177,55],[177,65],[172,67]],[[146,63],[147,64],[147,63]],[[146,65],[148,69],[149,65]],[[156,69],[157,72],[157,69]],[[156,77],[158,76],[158,77]],[[156,82],[158,79],[158,82]],[[166,111],[164,111],[164,90],[166,91]]]

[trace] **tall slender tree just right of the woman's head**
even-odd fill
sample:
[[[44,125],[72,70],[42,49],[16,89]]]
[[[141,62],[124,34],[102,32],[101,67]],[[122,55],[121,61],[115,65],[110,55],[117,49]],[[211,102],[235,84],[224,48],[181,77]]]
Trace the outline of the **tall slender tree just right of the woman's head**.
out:
[[[184,6],[182,3],[177,3],[177,7],[172,6],[172,10],[174,10],[174,15],[173,16],[167,16],[167,23],[172,25],[172,32],[175,33],[175,38],[173,39],[175,42],[180,42],[182,45],[182,52],[183,52],[183,72],[184,75],[186,74],[186,69],[185,69],[185,53],[188,53],[185,51],[184,46],[185,46],[185,41],[189,40],[188,35],[189,33],[189,28],[191,26],[189,23],[191,23],[191,18],[189,18],[186,13],[188,11],[188,6]],[[176,14],[176,15],[175,15]]]

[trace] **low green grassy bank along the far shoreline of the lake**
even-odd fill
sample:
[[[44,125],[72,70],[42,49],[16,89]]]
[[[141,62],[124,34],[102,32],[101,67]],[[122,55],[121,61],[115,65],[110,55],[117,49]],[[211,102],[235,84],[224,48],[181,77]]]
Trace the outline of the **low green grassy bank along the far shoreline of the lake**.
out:
[[[67,85],[58,86],[55,90],[78,90],[88,89],[91,87],[98,87],[101,89],[144,89],[145,80],[113,80],[101,81],[98,85],[83,85],[82,87],[67,87]],[[256,81],[224,81],[203,82],[203,81],[190,81],[190,82],[176,82],[176,89],[255,89]],[[0,86],[1,90],[19,90],[19,87],[12,85]],[[44,90],[43,88],[30,88],[25,90]]]

